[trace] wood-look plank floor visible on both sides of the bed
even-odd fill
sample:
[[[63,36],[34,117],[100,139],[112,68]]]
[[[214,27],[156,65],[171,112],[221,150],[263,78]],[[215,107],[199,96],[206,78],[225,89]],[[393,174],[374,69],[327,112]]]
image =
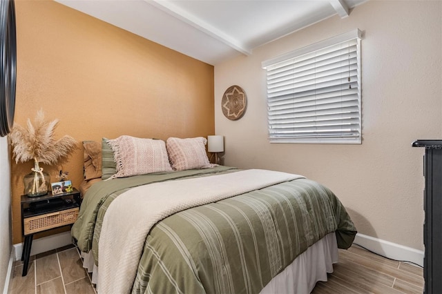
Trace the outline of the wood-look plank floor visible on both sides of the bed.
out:
[[[73,246],[32,256],[28,275],[21,277],[22,271],[23,264],[16,262],[8,293],[96,293]],[[323,293],[423,293],[423,270],[352,246],[339,250],[334,273],[312,292]]]

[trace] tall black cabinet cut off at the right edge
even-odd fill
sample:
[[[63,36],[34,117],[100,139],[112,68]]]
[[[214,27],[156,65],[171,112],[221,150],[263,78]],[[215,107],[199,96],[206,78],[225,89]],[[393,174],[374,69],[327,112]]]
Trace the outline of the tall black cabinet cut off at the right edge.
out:
[[[424,293],[442,293],[442,140],[417,140],[412,146],[425,148]]]

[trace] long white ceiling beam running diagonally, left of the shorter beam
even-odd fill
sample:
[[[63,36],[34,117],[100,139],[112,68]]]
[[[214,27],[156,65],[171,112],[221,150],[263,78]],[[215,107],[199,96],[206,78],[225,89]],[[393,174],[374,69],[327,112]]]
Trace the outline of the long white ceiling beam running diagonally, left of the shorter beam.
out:
[[[160,10],[168,14],[171,14],[173,17],[176,17],[177,19],[180,19],[185,23],[188,23],[197,30],[200,30],[201,32],[206,33],[207,35],[215,39],[218,39],[218,41],[221,41],[222,43],[233,48],[234,50],[237,50],[238,52],[241,52],[244,55],[251,55],[250,48],[244,47],[243,44],[231,38],[229,35],[218,30],[217,28],[214,28],[213,26],[209,25],[209,23],[206,23],[205,21],[202,21],[201,19],[198,19],[197,17],[193,16],[186,10],[182,10],[181,8],[173,5],[171,1],[167,0],[144,0],[144,1],[155,6],[156,8],[159,8]]]

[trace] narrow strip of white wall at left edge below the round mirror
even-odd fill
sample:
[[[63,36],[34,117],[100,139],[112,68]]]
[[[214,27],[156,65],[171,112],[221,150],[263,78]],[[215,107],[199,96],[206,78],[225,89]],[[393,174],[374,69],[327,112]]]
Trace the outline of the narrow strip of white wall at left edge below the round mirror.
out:
[[[0,291],[5,286],[12,248],[10,182],[8,139],[0,137]]]

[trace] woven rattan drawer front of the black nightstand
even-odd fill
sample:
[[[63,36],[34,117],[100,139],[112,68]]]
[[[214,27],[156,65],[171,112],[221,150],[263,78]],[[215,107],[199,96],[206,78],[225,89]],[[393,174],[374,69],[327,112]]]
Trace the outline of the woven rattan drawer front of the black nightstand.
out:
[[[38,215],[36,217],[28,217],[23,219],[23,231],[25,235],[73,224],[78,217],[79,208],[71,208],[67,210],[57,211],[55,213],[46,213],[46,215]]]

